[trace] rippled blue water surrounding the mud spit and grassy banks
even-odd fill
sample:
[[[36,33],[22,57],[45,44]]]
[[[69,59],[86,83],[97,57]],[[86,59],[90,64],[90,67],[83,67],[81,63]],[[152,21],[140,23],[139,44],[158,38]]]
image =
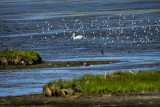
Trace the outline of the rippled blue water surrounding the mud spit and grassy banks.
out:
[[[73,40],[73,33],[85,39]],[[0,49],[5,48],[33,49],[51,61],[124,62],[0,72],[0,96],[41,93],[50,80],[88,73],[160,69],[160,1],[0,0]]]

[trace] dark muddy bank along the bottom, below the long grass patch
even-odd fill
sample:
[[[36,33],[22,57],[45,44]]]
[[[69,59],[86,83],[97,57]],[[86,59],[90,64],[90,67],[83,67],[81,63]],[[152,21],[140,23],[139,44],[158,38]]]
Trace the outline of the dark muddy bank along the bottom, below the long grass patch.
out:
[[[160,92],[109,93],[101,95],[75,94],[67,97],[38,95],[0,97],[0,106],[107,107],[159,106]]]

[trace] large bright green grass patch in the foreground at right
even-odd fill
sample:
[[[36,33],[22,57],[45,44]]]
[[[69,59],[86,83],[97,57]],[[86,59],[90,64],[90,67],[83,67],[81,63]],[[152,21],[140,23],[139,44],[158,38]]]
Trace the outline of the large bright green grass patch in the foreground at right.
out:
[[[46,92],[50,92],[50,95]],[[123,72],[116,71],[105,75],[84,75],[73,80],[51,81],[43,87],[46,96],[55,96],[63,90],[73,93],[99,94],[108,92],[160,91],[160,70]],[[58,95],[58,94],[57,94]],[[61,95],[61,94],[60,94]],[[63,95],[63,94],[62,94]]]

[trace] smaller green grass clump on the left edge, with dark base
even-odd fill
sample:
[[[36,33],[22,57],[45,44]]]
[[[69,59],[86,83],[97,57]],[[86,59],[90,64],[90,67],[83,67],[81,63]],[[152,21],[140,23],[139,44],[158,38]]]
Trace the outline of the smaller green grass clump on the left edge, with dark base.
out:
[[[41,63],[40,54],[33,50],[5,49],[0,51],[0,65],[33,65]]]

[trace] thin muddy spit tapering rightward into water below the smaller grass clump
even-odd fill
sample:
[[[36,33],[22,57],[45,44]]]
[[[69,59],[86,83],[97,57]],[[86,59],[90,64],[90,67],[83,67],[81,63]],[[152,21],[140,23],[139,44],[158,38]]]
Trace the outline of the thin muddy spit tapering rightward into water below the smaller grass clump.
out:
[[[120,61],[43,61],[36,65],[0,65],[0,69],[55,68],[69,66],[89,66],[95,64],[111,64]]]

